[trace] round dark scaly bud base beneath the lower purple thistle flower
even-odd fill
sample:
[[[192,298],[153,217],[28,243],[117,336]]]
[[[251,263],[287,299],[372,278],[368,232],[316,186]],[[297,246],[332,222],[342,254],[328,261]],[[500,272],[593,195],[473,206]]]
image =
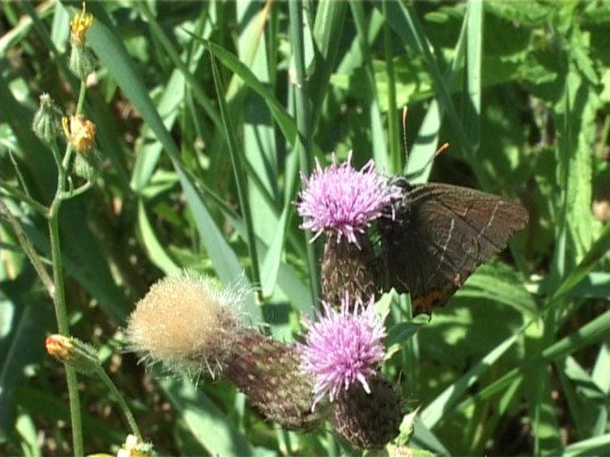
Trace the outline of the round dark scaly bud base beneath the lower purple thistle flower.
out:
[[[338,433],[360,449],[378,449],[398,435],[401,413],[400,396],[388,380],[368,379],[371,394],[355,384],[341,391],[332,403],[332,421]]]

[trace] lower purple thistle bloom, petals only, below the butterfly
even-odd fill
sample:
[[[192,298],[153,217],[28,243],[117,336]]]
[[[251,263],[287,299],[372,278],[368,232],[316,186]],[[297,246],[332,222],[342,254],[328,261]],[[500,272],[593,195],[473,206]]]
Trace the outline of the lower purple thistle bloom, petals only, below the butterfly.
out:
[[[356,382],[371,393],[367,378],[377,373],[385,355],[381,338],[386,336],[385,316],[375,314],[374,303],[374,298],[367,304],[360,298],[350,303],[346,294],[340,311],[322,302],[324,315],[316,312],[316,322],[305,318],[309,332],[298,351],[301,366],[315,379],[313,408],[324,395],[332,402],[341,389],[347,390]]]

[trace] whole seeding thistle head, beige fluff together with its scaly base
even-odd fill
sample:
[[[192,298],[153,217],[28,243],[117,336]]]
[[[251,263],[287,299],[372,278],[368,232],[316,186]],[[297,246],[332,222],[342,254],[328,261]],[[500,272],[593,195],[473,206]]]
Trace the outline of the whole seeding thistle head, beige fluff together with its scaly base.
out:
[[[246,295],[245,287],[221,288],[187,273],[162,279],[130,316],[131,348],[176,372],[225,376],[282,427],[315,428],[322,414],[313,412],[313,378],[299,370],[294,345],[239,319]]]

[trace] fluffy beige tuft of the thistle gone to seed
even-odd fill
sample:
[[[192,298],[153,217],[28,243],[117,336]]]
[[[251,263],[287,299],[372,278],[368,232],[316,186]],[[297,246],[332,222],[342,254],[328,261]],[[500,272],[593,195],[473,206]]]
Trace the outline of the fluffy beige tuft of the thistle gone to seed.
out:
[[[213,279],[183,273],[150,288],[131,313],[127,336],[142,360],[166,368],[215,376],[243,328],[238,320],[246,287],[218,286]]]

